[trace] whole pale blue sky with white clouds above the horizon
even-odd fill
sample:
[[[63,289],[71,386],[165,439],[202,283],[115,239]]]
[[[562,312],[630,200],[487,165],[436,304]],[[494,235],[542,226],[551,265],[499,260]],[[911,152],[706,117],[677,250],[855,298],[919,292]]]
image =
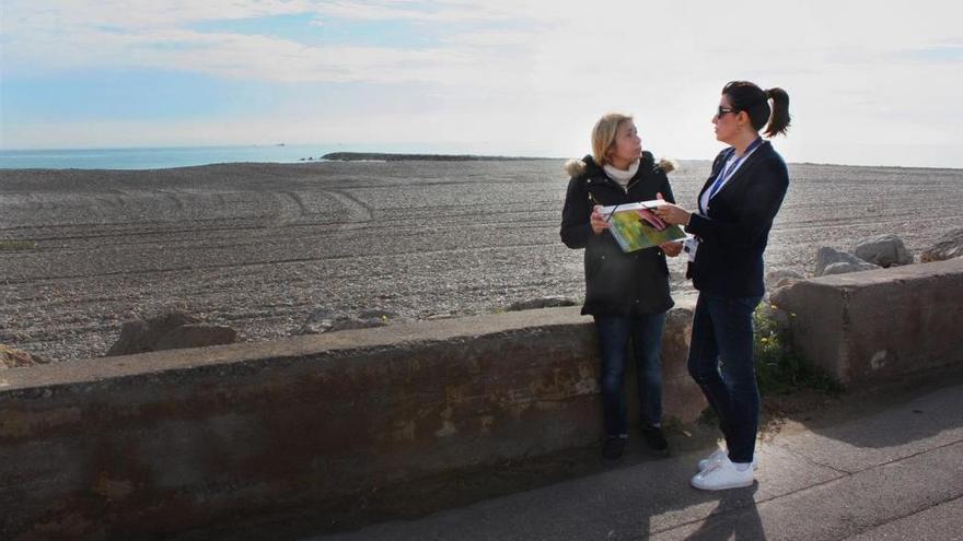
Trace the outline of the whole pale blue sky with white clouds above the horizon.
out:
[[[709,160],[726,82],[790,162],[963,167],[958,0],[2,0],[0,149],[397,145],[581,156],[630,114]]]

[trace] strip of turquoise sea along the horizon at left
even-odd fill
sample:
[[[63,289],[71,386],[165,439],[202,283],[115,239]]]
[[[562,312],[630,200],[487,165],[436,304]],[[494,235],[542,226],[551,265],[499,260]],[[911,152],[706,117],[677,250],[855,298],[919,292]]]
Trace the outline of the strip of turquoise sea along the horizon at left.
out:
[[[166,169],[221,163],[303,163],[330,152],[441,153],[418,145],[252,144],[126,149],[0,150],[3,169]]]

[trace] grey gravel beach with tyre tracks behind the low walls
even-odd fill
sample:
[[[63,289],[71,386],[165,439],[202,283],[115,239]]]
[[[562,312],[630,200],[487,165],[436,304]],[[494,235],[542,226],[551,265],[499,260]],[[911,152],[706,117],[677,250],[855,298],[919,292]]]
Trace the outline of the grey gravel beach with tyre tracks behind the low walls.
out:
[[[102,356],[125,320],[184,310],[242,340],[316,310],[387,321],[581,298],[559,240],[561,160],[0,169],[0,343]],[[670,175],[692,208],[709,162]],[[963,170],[790,165],[767,270],[811,274],[820,246],[895,233],[917,259],[963,224]],[[25,243],[12,243],[23,240]],[[673,287],[689,285],[672,260]]]

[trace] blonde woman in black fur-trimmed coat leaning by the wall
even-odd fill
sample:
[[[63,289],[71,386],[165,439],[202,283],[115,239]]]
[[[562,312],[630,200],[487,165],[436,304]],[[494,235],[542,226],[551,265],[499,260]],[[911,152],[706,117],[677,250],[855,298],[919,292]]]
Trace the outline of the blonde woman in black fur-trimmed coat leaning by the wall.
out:
[[[641,431],[647,445],[666,452],[662,434],[662,376],[659,352],[669,295],[669,267],[663,247],[624,252],[608,231],[600,207],[664,198],[674,202],[666,173],[669,163],[655,163],[642,150],[630,116],[608,114],[592,130],[592,154],[570,161],[571,176],[561,215],[561,240],[585,250],[585,303],[582,314],[595,318],[602,356],[602,402],[607,459],[622,456],[628,439],[623,380],[626,350],[635,353]],[[681,249],[676,244],[664,249]]]

